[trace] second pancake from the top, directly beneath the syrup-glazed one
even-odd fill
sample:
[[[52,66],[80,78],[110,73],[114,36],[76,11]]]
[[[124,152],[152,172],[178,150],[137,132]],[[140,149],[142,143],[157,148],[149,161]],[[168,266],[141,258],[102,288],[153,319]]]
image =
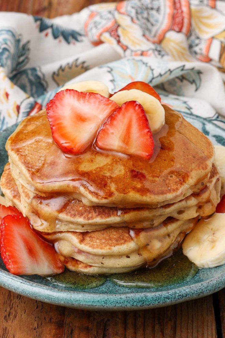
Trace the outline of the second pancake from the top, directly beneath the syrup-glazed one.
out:
[[[100,230],[109,226],[150,228],[158,226],[169,216],[186,220],[198,215],[209,215],[215,211],[214,205],[217,205],[219,201],[220,191],[219,173],[214,164],[204,190],[179,202],[166,204],[156,209],[90,207],[80,200],[70,200],[66,196],[59,195],[49,195],[48,198],[43,198],[28,191],[17,181],[19,192],[15,180],[11,176],[9,164],[4,168],[0,184],[11,204],[17,206],[30,219],[36,230],[43,232],[84,232]]]

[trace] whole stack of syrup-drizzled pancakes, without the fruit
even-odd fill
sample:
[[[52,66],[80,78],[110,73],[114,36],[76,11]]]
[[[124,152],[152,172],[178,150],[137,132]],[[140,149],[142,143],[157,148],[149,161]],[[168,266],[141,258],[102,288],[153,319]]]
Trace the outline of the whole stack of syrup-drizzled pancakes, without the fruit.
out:
[[[97,151],[63,153],[42,111],[9,137],[1,177],[8,203],[54,243],[66,267],[89,274],[153,265],[220,200],[212,143],[165,109],[150,161]]]

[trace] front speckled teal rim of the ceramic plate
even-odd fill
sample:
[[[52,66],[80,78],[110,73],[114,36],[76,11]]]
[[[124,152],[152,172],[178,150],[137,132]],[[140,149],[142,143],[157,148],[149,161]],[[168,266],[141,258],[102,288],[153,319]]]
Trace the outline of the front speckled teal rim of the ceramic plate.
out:
[[[46,285],[43,288],[0,269],[0,285],[23,296],[59,306],[84,310],[140,310],[173,305],[219,291],[225,286],[225,273],[193,285],[177,286],[173,290],[107,294],[64,291]]]

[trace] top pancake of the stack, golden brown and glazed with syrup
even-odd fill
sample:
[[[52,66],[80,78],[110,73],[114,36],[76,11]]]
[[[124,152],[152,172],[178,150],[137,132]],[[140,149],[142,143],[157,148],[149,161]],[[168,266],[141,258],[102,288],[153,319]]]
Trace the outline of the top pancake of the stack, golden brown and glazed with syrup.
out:
[[[180,114],[165,109],[165,125],[154,135],[150,161],[98,152],[63,153],[52,139],[46,112],[27,117],[6,143],[17,178],[35,192],[65,193],[87,205],[159,207],[207,184],[214,160],[212,143]]]

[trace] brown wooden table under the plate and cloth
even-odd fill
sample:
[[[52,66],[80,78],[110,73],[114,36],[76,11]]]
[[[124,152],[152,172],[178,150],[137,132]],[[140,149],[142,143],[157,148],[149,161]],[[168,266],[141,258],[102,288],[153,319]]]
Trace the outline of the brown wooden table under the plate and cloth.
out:
[[[53,18],[98,2],[101,0],[0,0],[0,10]],[[222,290],[154,310],[82,311],[0,288],[0,338],[221,338],[225,337],[224,299]]]

